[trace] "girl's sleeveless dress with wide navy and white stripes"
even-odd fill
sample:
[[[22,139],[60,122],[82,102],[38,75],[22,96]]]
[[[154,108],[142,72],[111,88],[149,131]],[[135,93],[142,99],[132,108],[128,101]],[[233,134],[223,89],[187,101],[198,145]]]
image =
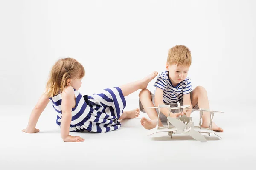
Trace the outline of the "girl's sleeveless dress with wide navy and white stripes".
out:
[[[89,131],[105,133],[121,127],[118,119],[126,106],[125,97],[119,87],[105,89],[99,94],[82,96],[75,90],[76,106],[72,108],[70,132]],[[56,123],[61,125],[61,94],[50,99],[57,111]]]

